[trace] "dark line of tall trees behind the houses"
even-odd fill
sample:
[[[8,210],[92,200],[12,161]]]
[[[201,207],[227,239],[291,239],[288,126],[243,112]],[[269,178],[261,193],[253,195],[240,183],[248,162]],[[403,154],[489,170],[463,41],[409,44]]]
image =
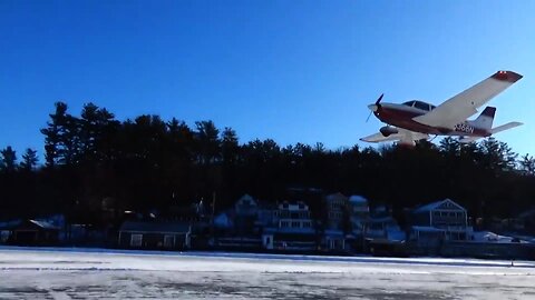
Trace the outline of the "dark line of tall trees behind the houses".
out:
[[[20,160],[11,147],[1,150],[2,218],[61,212],[71,221],[97,222],[103,209],[165,212],[201,199],[215,199],[218,210],[243,193],[288,199],[292,188],[363,194],[395,213],[451,198],[470,216],[508,217],[535,200],[535,159],[494,138],[327,150],[320,142],[240,143],[233,129],[212,121],[193,128],[148,114],[119,121],[94,103],[76,117],[57,102],[49,117],[41,129],[43,163],[33,149]]]

